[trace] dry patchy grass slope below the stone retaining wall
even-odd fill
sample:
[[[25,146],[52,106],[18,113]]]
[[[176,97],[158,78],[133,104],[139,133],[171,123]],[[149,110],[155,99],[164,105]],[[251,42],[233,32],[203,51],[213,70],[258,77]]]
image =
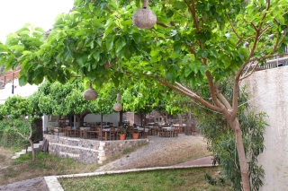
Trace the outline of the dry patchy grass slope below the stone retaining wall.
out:
[[[7,169],[1,169],[0,185],[43,176],[91,172],[100,166],[96,163],[83,164],[69,158],[58,158],[46,152],[36,152],[35,162],[31,159],[31,152],[29,152],[12,161]],[[4,162],[0,165],[9,165],[7,159]]]

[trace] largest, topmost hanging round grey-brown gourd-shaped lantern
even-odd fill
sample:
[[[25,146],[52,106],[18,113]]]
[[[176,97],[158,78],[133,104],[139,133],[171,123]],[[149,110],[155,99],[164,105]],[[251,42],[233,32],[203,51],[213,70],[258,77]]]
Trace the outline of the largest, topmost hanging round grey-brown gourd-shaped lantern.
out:
[[[139,29],[151,29],[157,22],[156,14],[148,8],[148,0],[142,1],[142,8],[132,17],[133,24]]]

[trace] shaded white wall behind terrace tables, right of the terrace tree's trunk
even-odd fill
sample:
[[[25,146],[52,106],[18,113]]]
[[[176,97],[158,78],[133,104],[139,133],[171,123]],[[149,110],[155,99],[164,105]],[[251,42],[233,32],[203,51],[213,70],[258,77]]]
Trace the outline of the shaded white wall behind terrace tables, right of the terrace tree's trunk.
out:
[[[108,116],[103,116],[103,122],[112,122],[114,126],[118,126],[120,113],[114,112]],[[101,115],[88,114],[84,117],[84,122],[100,122]]]

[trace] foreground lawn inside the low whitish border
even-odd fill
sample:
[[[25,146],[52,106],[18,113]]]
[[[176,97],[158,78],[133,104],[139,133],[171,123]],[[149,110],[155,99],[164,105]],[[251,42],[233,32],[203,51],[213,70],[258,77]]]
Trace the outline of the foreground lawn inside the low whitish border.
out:
[[[64,190],[231,190],[228,185],[211,186],[204,178],[205,172],[218,168],[161,169],[103,175],[88,178],[60,178]]]

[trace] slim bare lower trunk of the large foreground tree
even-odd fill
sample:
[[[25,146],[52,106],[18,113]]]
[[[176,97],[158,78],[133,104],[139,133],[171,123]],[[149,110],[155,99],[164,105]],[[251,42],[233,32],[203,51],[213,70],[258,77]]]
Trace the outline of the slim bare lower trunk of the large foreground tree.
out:
[[[236,118],[233,122],[229,123],[229,125],[232,127],[232,129],[234,129],[234,135],[236,138],[236,146],[237,146],[237,152],[238,152],[238,157],[239,157],[239,165],[240,165],[240,171],[241,171],[243,191],[250,191],[248,164],[247,164],[247,159],[246,159],[245,150],[244,150],[242,131],[238,123],[238,118]]]

